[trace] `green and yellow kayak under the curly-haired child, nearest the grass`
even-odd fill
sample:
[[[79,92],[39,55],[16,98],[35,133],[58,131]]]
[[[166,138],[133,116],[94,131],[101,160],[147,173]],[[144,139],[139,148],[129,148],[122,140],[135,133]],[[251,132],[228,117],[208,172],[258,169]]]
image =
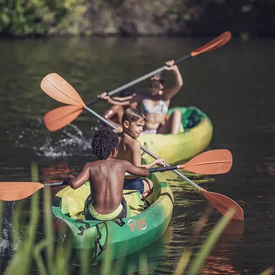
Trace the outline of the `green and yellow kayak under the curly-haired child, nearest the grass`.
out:
[[[127,202],[127,218],[112,221],[89,221],[83,214],[84,202],[90,193],[90,183],[78,189],[65,187],[53,198],[53,215],[57,235],[62,230],[72,236],[72,247],[80,258],[83,250],[89,253],[90,264],[116,259],[139,251],[158,240],[166,231],[174,198],[169,184],[161,173],[150,174],[153,193],[145,204],[140,193],[123,190]],[[107,251],[105,251],[107,250]]]

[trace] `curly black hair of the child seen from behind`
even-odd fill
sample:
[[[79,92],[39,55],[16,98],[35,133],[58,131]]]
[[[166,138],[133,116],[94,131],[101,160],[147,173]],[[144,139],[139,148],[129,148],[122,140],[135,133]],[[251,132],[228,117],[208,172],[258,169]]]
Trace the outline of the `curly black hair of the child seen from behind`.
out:
[[[118,149],[119,138],[111,128],[102,127],[94,135],[92,141],[92,149],[94,156],[100,160],[106,160],[108,156],[114,152],[115,148]]]

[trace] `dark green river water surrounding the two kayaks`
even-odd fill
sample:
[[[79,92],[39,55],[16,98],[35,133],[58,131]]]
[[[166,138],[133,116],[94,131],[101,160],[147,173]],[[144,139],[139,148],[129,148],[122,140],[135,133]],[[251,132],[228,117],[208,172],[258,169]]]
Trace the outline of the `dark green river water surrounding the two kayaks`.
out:
[[[88,113],[55,133],[43,125],[43,115],[61,105],[40,89],[46,74],[63,76],[87,102],[210,39],[2,39],[0,180],[31,181],[33,162],[38,163],[40,182],[59,180],[68,170],[76,174],[93,159],[90,141],[99,123]],[[229,173],[188,177],[209,191],[229,196],[244,210],[243,225],[222,234],[206,260],[204,273],[259,274],[274,263],[274,48],[275,40],[233,39],[219,50],[179,65],[184,86],[171,107],[194,105],[203,110],[214,125],[210,149],[229,149],[233,154]],[[172,82],[168,72],[166,85]],[[146,85],[136,88],[144,91]],[[93,109],[102,114],[107,107],[101,102]],[[183,249],[198,251],[221,217],[213,213],[200,237],[191,239],[207,202],[173,173],[166,177],[175,199],[169,231],[156,244],[125,258],[141,273],[171,273]],[[28,217],[28,208],[22,215]],[[139,261],[144,255],[149,269]]]

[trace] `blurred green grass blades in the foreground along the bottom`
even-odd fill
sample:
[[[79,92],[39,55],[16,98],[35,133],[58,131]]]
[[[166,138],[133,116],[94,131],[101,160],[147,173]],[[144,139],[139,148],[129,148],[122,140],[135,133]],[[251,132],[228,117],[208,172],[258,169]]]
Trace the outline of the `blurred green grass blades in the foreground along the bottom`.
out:
[[[68,274],[81,274],[87,275],[94,273],[94,268],[98,270],[101,274],[121,274],[124,258],[117,260],[116,262],[110,261],[108,259],[108,250],[104,251],[105,260],[97,267],[90,267],[89,259],[92,255],[89,254],[88,250],[81,251],[81,262],[79,266],[74,266],[71,261],[74,260],[73,249],[70,244],[72,242],[67,241],[63,243],[62,236],[58,238],[57,244],[54,240],[53,232],[53,220],[51,215],[51,198],[50,189],[44,188],[44,211],[43,211],[43,229],[44,238],[39,242],[35,242],[35,237],[37,234],[38,226],[38,204],[39,204],[39,194],[38,192],[31,196],[31,206],[30,206],[30,222],[28,226],[28,232],[24,243],[17,249],[15,256],[9,263],[6,274],[17,274],[25,275],[30,274],[32,270],[36,270],[35,273],[42,275],[46,274],[58,274],[58,275],[68,275]],[[1,203],[1,202],[0,202]],[[0,208],[1,209],[1,208]],[[22,210],[22,203],[17,205],[15,209],[15,218],[20,216]],[[187,249],[178,262],[175,269],[175,274],[198,274],[200,268],[203,266],[206,257],[209,255],[213,249],[218,237],[225,229],[228,224],[231,212],[228,212],[221,220],[217,223],[213,231],[209,234],[205,244],[200,249],[199,253],[193,255],[190,249]],[[16,224],[16,222],[14,223]],[[18,229],[18,226],[17,226]],[[16,233],[14,236],[16,240]],[[61,245],[62,244],[62,245]],[[145,266],[140,272],[142,274],[147,274],[149,270],[149,264],[147,257],[141,257],[139,259],[141,266]],[[147,268],[148,267],[148,268]],[[99,269],[101,268],[101,269]],[[128,274],[135,272],[135,266],[129,265]],[[272,268],[266,269],[262,275],[268,275],[273,272]]]

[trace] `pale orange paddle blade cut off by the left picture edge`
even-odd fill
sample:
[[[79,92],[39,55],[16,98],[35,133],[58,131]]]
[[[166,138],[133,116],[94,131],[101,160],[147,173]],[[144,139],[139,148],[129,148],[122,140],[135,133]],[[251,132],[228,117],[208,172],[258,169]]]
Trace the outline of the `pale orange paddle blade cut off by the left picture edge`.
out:
[[[43,187],[39,182],[0,182],[0,200],[21,200]]]

